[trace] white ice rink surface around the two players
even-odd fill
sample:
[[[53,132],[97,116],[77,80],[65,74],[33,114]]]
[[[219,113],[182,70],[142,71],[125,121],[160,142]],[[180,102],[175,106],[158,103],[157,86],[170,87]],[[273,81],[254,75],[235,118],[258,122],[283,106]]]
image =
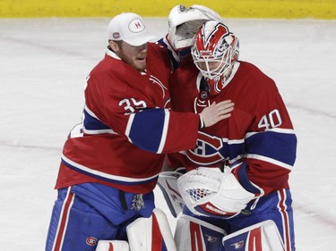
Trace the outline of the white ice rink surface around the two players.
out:
[[[44,250],[62,146],[81,121],[108,21],[0,20],[0,250]],[[166,19],[145,21],[158,37],[166,33]],[[240,38],[240,59],[276,81],[297,131],[297,250],[336,250],[336,21],[225,22]]]

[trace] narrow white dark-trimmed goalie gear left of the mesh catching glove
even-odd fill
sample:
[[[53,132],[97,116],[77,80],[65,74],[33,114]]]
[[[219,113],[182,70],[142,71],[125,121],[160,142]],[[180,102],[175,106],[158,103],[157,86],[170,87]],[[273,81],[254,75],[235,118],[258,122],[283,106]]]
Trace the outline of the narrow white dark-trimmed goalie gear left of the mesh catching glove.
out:
[[[158,186],[166,200],[170,213],[177,218],[185,205],[177,188],[177,179],[182,176],[180,172],[160,172]]]

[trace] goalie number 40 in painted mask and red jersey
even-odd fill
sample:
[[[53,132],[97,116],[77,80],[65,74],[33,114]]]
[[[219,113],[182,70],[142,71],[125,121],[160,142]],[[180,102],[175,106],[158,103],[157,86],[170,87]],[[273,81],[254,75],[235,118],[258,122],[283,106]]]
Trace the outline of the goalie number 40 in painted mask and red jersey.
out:
[[[272,220],[285,250],[295,250],[289,172],[297,138],[278,88],[254,64],[238,60],[238,38],[220,21],[198,29],[191,53],[194,63],[180,65],[170,80],[173,110],[201,113],[227,99],[235,109],[228,120],[200,130],[196,147],[170,155],[174,167],[188,171],[177,181],[186,205],[177,249],[231,250],[220,249],[214,232]]]

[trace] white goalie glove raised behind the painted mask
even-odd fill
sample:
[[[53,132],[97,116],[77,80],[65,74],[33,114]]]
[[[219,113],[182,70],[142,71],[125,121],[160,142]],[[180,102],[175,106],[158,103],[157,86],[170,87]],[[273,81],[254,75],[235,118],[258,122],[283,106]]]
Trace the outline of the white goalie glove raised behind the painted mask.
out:
[[[193,38],[205,21],[221,21],[220,14],[203,5],[183,4],[173,7],[168,15],[168,40],[175,50],[193,46]]]

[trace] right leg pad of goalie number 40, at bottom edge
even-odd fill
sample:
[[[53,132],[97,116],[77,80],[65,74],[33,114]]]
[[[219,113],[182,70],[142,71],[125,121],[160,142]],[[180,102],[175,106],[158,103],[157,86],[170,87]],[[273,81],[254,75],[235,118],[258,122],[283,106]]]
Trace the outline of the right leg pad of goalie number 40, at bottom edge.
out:
[[[284,251],[280,232],[271,221],[260,222],[238,230],[222,239],[223,251]]]

